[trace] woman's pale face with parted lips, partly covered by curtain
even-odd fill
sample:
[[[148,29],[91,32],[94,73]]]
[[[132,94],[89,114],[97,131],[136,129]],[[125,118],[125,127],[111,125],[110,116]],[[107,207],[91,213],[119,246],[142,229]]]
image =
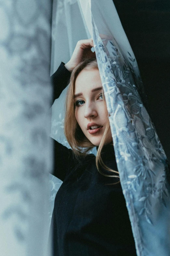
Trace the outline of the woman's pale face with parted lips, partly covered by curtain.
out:
[[[74,102],[77,122],[89,141],[98,146],[103,137],[108,112],[102,96],[102,82],[98,69],[83,69],[76,78]],[[106,144],[112,142],[111,131]]]

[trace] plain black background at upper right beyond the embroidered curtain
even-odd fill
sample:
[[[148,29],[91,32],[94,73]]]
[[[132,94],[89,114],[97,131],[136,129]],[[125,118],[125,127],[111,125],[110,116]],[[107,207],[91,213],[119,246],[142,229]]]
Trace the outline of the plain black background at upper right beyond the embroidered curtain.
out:
[[[149,110],[170,161],[170,0],[113,0],[135,54]]]

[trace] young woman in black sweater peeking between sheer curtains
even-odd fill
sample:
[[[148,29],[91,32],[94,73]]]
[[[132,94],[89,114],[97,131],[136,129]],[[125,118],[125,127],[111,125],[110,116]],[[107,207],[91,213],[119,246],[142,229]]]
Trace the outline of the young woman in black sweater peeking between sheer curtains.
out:
[[[92,39],[79,41],[70,61],[61,62],[51,77],[54,99],[70,80],[64,131],[73,149],[54,141],[53,174],[63,183],[51,222],[53,256],[133,256],[135,242],[92,47]],[[96,157],[87,154],[94,146]]]

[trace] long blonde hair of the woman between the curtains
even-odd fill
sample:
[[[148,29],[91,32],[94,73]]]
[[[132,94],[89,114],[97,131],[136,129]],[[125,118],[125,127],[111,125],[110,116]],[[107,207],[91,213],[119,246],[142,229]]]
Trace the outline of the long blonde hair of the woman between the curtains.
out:
[[[82,132],[80,126],[78,125],[78,122],[75,117],[75,103],[74,103],[74,90],[75,90],[75,82],[76,78],[78,77],[78,74],[83,69],[89,70],[89,69],[98,69],[98,64],[96,58],[93,59],[85,59],[82,62],[80,62],[76,68],[71,73],[70,77],[70,84],[67,90],[66,100],[65,100],[65,119],[64,119],[64,134],[65,137],[71,146],[75,156],[78,158],[80,155],[86,155],[93,147],[95,147],[84,135]],[[106,100],[103,93],[103,99],[105,102],[106,107]],[[100,167],[102,166],[105,170],[113,172],[115,174],[119,174],[118,171],[112,170],[108,168],[101,158],[101,151],[103,146],[106,144],[106,135],[110,131],[110,124],[109,119],[106,123],[106,128],[102,137],[102,140],[100,142],[100,145],[97,150],[96,155],[96,166],[98,171],[107,177],[117,177],[118,175],[107,175],[101,172]],[[120,181],[119,181],[120,182]],[[118,183],[118,182],[116,182]],[[115,184],[115,183],[113,183]],[[111,184],[110,184],[111,185]]]

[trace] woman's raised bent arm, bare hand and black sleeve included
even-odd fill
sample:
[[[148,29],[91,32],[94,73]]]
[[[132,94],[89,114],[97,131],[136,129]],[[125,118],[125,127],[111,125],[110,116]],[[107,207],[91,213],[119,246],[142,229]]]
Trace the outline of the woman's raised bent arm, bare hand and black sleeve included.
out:
[[[91,51],[93,46],[92,39],[78,41],[71,59],[66,64],[61,62],[57,71],[50,77],[53,84],[52,104],[55,99],[59,98],[62,91],[69,84],[72,70],[83,60],[83,58],[95,57],[95,52],[93,53]],[[51,140],[53,139],[51,138]],[[63,181],[67,176],[70,167],[75,164],[73,151],[55,140],[53,140],[52,150],[54,152],[54,167],[52,174]]]

